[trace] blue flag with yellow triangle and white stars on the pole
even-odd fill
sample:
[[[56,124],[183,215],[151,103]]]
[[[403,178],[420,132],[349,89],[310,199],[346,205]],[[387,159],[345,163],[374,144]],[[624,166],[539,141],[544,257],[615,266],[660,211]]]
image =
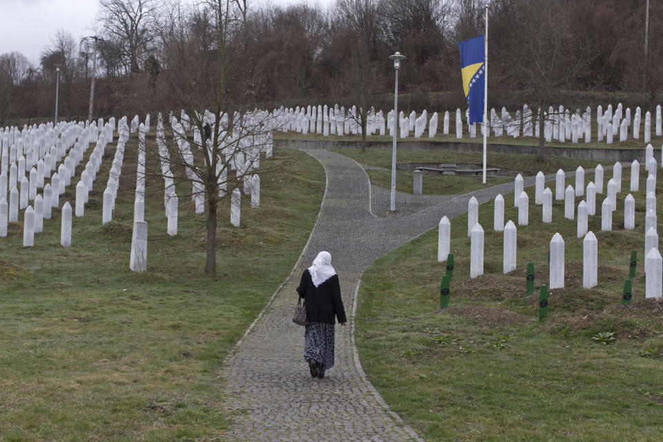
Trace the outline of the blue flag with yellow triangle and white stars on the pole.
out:
[[[468,100],[468,123],[483,122],[483,88],[486,84],[484,73],[483,35],[459,41],[461,52],[461,73],[463,74],[463,91]]]

